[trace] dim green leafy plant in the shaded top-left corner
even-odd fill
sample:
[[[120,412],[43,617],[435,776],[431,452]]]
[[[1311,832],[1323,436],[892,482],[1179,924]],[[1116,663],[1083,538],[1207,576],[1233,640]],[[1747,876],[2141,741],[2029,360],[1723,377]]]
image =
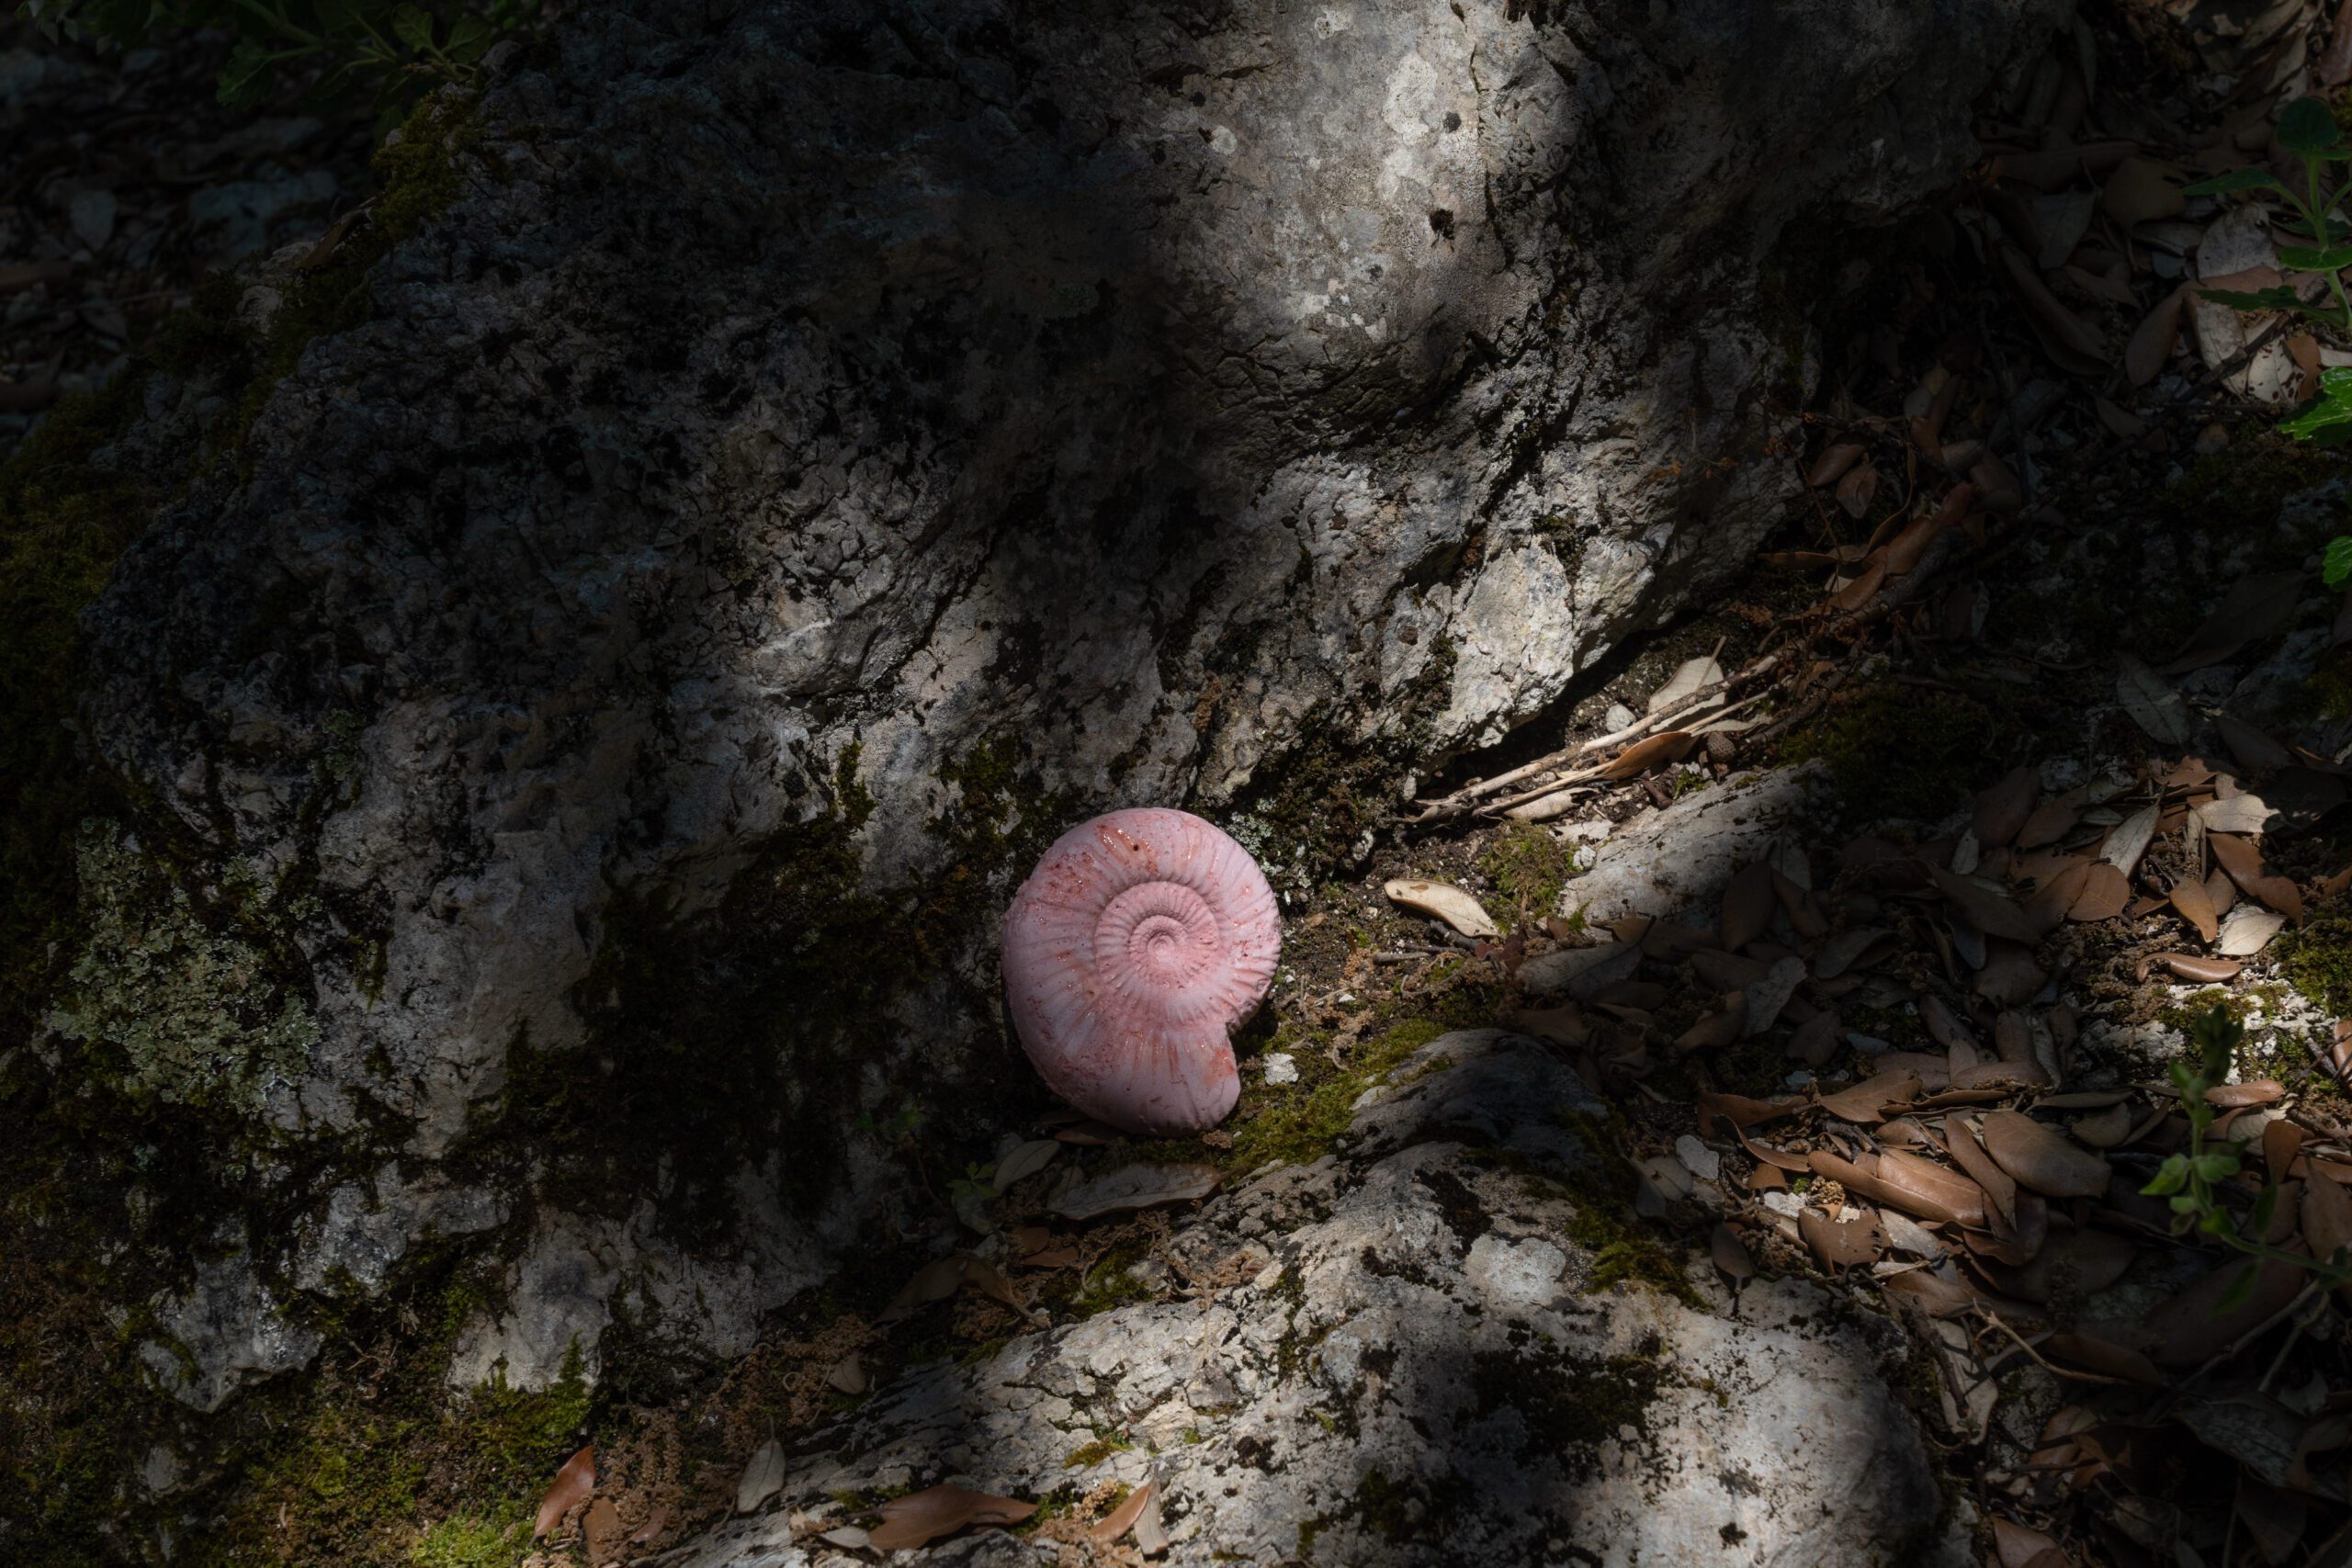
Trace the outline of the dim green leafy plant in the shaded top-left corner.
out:
[[[440,82],[473,82],[501,38],[536,35],[546,0],[19,0],[16,14],[52,40],[139,49],[172,33],[233,38],[219,94],[252,108],[282,71],[318,68],[313,92],[372,89],[386,125]]]

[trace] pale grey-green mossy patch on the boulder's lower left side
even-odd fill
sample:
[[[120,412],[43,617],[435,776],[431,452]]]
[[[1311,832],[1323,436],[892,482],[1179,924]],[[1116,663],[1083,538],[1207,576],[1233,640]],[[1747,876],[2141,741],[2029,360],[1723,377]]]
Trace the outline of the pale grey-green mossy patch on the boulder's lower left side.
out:
[[[80,882],[87,936],[49,1016],[59,1034],[113,1058],[136,1098],[179,1105],[249,1114],[273,1077],[303,1070],[310,1006],[245,931],[261,896],[200,910],[113,823],[85,827]]]

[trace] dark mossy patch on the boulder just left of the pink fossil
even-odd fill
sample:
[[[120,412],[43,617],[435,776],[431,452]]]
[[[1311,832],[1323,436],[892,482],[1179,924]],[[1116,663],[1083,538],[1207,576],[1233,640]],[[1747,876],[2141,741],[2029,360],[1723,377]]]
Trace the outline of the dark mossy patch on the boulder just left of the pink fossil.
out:
[[[1042,1110],[993,1023],[985,938],[1070,802],[1037,785],[1009,736],[938,778],[948,802],[927,832],[941,863],[915,886],[866,886],[875,799],[851,745],[809,816],[769,835],[715,910],[680,917],[659,896],[616,889],[576,994],[586,1046],[517,1039],[468,1154],[539,1161],[539,1194],[572,1211],[619,1215],[652,1197],[691,1248],[724,1241],[729,1187],[762,1152],[781,1154],[781,1197],[807,1213],[851,1138],[896,1145],[924,1168],[960,1166],[964,1143],[1009,1112]],[[906,1006],[967,1020],[978,1037],[957,1053],[955,1081],[901,1074],[898,1100],[868,1103],[870,1067],[913,1053]]]

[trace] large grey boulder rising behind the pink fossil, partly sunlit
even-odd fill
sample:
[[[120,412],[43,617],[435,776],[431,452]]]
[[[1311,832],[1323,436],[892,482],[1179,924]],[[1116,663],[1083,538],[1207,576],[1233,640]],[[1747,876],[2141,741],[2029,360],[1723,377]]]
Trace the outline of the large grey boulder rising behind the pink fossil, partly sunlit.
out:
[[[990,736],[1077,811],[1218,811],[1305,738],[1503,736],[1740,567],[1806,378],[1766,263],[1955,176],[2056,9],[572,16],[376,320],[308,348],[87,621],[103,762],[223,875],[303,889],[273,919],[318,1037],[263,1124],[407,1128],[430,1180],[517,1039],[588,1039],[616,889],[708,914],[851,757],[889,891]],[[967,990],[877,1013],[821,1114],[971,1070],[962,938]],[[741,1324],[898,1182],[851,1140],[786,1204],[786,1107],[762,1138],[731,1229],[790,1244],[513,1204],[513,1321],[588,1333],[652,1269],[736,1281]],[[310,1187],[275,1208],[336,1225],[360,1171],[285,1168]]]

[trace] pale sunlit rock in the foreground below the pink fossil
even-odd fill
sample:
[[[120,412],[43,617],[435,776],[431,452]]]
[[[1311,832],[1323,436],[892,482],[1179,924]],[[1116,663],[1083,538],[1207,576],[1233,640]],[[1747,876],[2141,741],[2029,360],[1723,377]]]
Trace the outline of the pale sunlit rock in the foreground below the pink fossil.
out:
[[[1590,1291],[1559,1194],[1592,1154],[1562,1114],[1604,1107],[1524,1037],[1446,1034],[1397,1081],[1439,1063],[1369,1105],[1338,1154],[1275,1168],[1169,1239],[1181,1272],[1249,1284],[915,1371],[788,1439],[767,1512],[666,1568],[854,1561],[814,1540],[847,1523],[842,1490],[1035,1497],[1105,1476],[1157,1476],[1171,1563],[1943,1561],[1926,1446],[1886,1392],[1893,1324],[1802,1281],[1750,1286],[1736,1316]],[[1073,1467],[1101,1432],[1136,1446]],[[920,1561],[1051,1554],[981,1537]]]

